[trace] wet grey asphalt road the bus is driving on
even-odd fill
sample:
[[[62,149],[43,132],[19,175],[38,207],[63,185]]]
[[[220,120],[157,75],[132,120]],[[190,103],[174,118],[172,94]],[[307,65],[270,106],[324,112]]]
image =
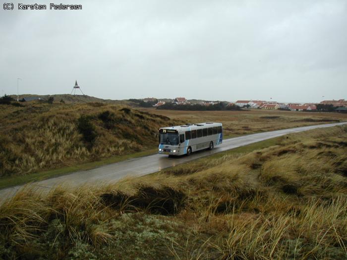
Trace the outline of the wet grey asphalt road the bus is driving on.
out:
[[[126,176],[141,176],[149,173],[159,171],[164,168],[175,166],[179,163],[194,160],[200,157],[209,156],[215,153],[220,153],[223,151],[231,150],[240,146],[249,145],[259,141],[263,141],[270,138],[275,138],[291,133],[302,132],[306,130],[311,130],[315,128],[331,127],[336,125],[344,125],[347,122],[334,123],[334,124],[323,124],[323,125],[312,125],[297,127],[291,129],[284,129],[272,132],[264,132],[258,134],[251,134],[246,136],[240,136],[235,138],[230,138],[223,140],[223,144],[219,145],[212,151],[202,151],[193,153],[191,156],[180,156],[176,158],[168,157],[166,155],[152,155],[144,156],[134,159],[129,159],[121,162],[116,162],[104,166],[100,166],[95,169],[86,171],[77,171],[67,175],[62,175],[59,177],[31,183],[28,186],[37,189],[52,189],[52,187],[58,184],[67,184],[69,186],[80,186],[83,184],[98,184],[114,182]],[[0,201],[6,198],[12,197],[16,191],[18,191],[23,185],[14,186],[11,188],[6,188],[0,190]]]

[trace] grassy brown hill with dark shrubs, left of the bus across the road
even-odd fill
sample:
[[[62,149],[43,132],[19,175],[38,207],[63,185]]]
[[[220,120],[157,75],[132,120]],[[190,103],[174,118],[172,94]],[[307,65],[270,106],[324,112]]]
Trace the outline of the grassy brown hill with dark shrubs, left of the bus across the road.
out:
[[[157,145],[166,116],[106,103],[0,105],[0,177],[126,155]]]

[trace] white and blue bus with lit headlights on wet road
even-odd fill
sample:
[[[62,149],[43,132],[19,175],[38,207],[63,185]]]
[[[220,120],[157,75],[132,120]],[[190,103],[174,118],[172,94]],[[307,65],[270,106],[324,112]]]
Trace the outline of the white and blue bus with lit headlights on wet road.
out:
[[[221,123],[185,124],[159,129],[159,154],[169,156],[189,156],[203,149],[212,150],[222,144]]]

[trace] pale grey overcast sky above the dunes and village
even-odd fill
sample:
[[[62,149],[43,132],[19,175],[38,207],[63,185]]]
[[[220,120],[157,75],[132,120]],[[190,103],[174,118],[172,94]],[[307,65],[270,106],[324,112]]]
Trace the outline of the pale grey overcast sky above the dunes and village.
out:
[[[347,99],[346,0],[59,2],[1,4],[1,96]]]

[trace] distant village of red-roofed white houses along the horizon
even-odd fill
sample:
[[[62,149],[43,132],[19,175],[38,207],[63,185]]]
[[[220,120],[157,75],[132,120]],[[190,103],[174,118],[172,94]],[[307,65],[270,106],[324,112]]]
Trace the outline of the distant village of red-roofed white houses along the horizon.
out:
[[[153,102],[157,101],[155,98],[147,98],[143,99],[145,102]],[[173,104],[176,105],[187,105],[191,104],[188,102],[187,99],[185,98],[175,98],[172,100]],[[210,101],[210,102],[201,102],[198,103],[199,105],[203,106],[210,106],[214,104],[218,104],[219,102],[215,101]],[[158,103],[154,104],[154,107],[158,107],[161,105],[166,104],[164,101],[159,101]],[[347,101],[344,99],[340,100],[325,100],[321,101],[319,104],[322,105],[332,105],[335,107],[334,109],[338,112],[346,112],[347,111]],[[244,107],[248,109],[281,109],[281,110],[290,110],[290,111],[312,111],[312,110],[317,110],[317,103],[305,103],[305,104],[300,104],[300,103],[279,103],[276,101],[262,101],[262,100],[238,100],[235,103],[229,103],[227,106],[230,105],[237,105],[239,107]]]

